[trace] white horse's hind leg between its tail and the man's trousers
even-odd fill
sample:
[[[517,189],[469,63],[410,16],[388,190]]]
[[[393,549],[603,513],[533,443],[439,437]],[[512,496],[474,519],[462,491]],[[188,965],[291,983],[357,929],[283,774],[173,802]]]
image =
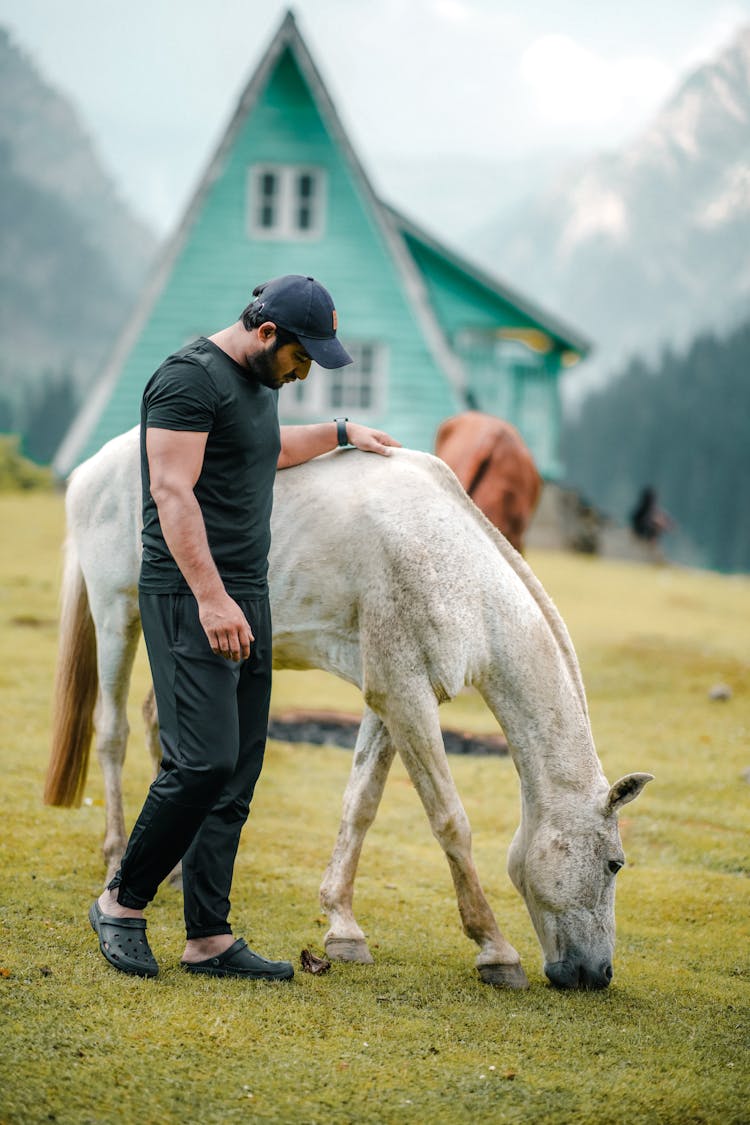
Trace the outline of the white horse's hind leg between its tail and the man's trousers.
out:
[[[133,600],[115,602],[106,612],[93,613],[97,622],[99,699],[94,717],[97,756],[105,782],[105,843],[107,882],[119,866],[127,835],[123,810],[123,764],[129,726],[127,696],[141,619]]]

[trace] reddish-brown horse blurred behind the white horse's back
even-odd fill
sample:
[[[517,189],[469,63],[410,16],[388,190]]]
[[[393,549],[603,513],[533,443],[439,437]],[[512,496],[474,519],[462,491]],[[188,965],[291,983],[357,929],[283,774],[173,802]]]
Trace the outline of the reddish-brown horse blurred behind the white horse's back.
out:
[[[542,478],[518,431],[491,414],[466,411],[440,425],[435,452],[490,523],[522,551]]]

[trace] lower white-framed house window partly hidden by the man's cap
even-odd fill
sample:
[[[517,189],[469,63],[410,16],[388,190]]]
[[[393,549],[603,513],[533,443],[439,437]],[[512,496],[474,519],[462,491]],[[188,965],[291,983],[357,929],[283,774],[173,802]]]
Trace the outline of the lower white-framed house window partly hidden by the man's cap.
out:
[[[305,381],[291,384],[279,395],[279,413],[283,417],[300,421],[319,421],[334,416],[351,417],[358,422],[371,422],[386,413],[388,387],[388,348],[376,340],[342,341],[353,363],[333,371],[326,371],[316,363]],[[362,369],[365,349],[370,351],[370,367]],[[362,405],[363,381],[369,387],[370,403]],[[343,400],[334,398],[337,388],[343,390]]]

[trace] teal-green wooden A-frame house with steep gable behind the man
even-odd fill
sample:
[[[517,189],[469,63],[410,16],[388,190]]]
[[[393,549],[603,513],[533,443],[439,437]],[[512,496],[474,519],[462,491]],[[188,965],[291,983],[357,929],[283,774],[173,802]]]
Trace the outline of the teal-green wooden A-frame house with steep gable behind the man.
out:
[[[66,475],[138,420],[170,352],[235,321],[282,273],[334,295],[354,363],[279,396],[282,422],[345,414],[431,450],[468,407],[513,422],[559,475],[559,376],[587,343],[376,196],[291,12],[55,458]]]

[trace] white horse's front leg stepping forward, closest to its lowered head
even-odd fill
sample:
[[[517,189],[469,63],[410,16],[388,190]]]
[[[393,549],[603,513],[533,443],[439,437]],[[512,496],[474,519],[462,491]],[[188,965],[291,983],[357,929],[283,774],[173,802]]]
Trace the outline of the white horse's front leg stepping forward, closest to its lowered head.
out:
[[[469,819],[445,757],[437,703],[430,687],[388,693],[388,727],[419,794],[433,835],[448,858],[464,934],[479,946],[487,984],[528,987],[521,957],[499,930],[471,856]]]

